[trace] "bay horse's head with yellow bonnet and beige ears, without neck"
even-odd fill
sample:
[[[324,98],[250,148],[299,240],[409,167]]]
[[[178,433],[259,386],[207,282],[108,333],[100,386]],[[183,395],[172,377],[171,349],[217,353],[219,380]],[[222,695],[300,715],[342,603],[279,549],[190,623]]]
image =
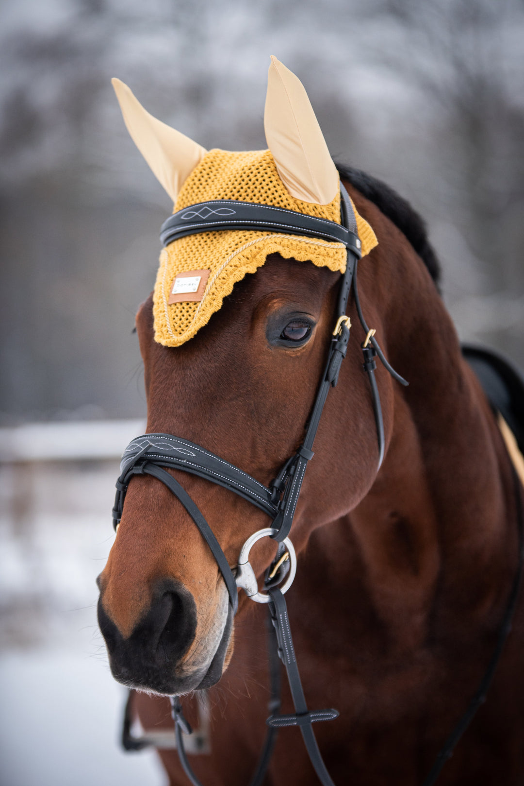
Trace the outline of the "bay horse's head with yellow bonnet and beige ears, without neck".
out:
[[[221,678],[233,653],[236,599],[226,586],[227,566],[219,567],[182,492],[177,500],[165,476],[159,483],[141,465],[131,478],[132,462],[168,455],[168,473],[196,501],[234,571],[247,539],[271,526],[271,505],[276,515],[292,472],[303,477],[313,457],[304,435],[315,421],[316,458],[298,504],[288,500],[300,556],[313,530],[354,509],[376,479],[390,439],[393,383],[385,374],[378,381],[383,417],[377,446],[376,398],[361,370],[361,343],[370,376],[379,347],[372,330],[349,343],[344,316],[350,261],[356,265],[367,255],[376,237],[345,189],[341,196],[339,173],[299,80],[273,58],[265,113],[269,149],[244,153],[207,152],[145,112],[123,83],[114,85],[128,130],[175,212],[164,225],[167,248],[155,292],[137,314],[147,434],[124,455],[125,505],[99,578],[98,614],[115,678],[171,695]],[[251,207],[259,211],[255,217]],[[283,232],[280,222],[289,216]],[[343,294],[341,282],[347,284]],[[377,301],[387,311],[385,289],[363,292],[362,308],[380,329]],[[362,321],[360,303],[358,312]],[[328,347],[336,370],[328,372],[326,393],[339,373],[342,384],[328,396],[319,425],[315,402],[326,382]],[[349,362],[341,367],[346,352]],[[214,455],[207,476],[194,466],[192,474],[182,472],[197,461],[200,446]],[[290,457],[294,465],[286,465]],[[343,468],[347,483],[336,468]],[[233,470],[240,472],[240,485],[241,475],[249,477],[247,498],[232,494]],[[280,486],[273,483],[279,477]],[[257,495],[266,508],[255,506]],[[255,546],[255,578],[273,563],[276,550],[268,538]],[[240,615],[248,604],[243,596]]]

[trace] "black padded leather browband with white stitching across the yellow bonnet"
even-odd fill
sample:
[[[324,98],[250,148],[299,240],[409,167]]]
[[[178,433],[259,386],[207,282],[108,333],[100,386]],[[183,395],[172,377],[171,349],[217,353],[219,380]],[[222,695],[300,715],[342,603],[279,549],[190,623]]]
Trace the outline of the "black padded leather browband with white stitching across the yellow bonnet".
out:
[[[342,224],[328,219],[317,219],[314,215],[235,200],[199,202],[177,211],[163,222],[160,241],[167,246],[179,237],[221,230],[254,230],[321,237],[331,243],[343,243],[357,256],[361,255],[356,222],[355,232],[352,232]]]

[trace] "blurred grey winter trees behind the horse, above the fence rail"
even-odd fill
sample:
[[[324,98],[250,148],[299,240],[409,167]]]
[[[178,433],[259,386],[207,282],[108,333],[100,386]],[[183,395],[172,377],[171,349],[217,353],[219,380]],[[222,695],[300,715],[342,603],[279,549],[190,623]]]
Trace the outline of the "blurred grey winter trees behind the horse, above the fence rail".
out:
[[[523,38],[518,0],[4,2],[0,417],[144,411],[130,329],[171,206],[109,78],[208,148],[257,149],[270,53],[334,156],[427,217],[461,335],[524,365]]]

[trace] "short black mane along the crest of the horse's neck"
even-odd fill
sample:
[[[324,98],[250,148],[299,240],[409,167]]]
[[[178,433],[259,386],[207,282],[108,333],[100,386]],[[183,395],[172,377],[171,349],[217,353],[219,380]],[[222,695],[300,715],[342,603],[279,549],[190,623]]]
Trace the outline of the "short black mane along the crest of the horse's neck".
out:
[[[440,264],[430,241],[427,239],[426,222],[413,210],[409,202],[391,189],[389,185],[372,178],[370,174],[366,174],[360,169],[346,167],[343,163],[337,163],[336,168],[343,180],[348,180],[357,191],[360,191],[362,196],[376,204],[377,208],[405,234],[438,286],[441,274]]]

